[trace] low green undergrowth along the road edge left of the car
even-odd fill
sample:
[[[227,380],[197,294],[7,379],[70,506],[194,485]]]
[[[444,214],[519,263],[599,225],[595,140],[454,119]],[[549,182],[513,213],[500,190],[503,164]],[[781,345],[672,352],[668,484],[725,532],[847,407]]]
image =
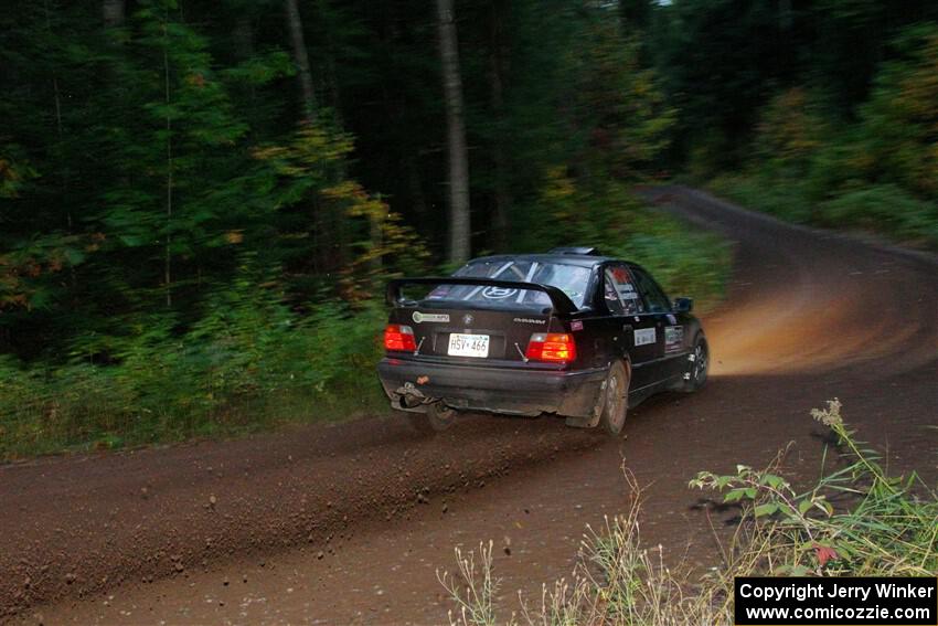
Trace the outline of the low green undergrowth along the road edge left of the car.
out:
[[[239,290],[241,289],[241,290]],[[374,303],[322,303],[309,316],[242,283],[173,336],[142,325],[107,365],[0,360],[0,457],[252,432],[384,407]],[[315,407],[315,409],[313,409]]]

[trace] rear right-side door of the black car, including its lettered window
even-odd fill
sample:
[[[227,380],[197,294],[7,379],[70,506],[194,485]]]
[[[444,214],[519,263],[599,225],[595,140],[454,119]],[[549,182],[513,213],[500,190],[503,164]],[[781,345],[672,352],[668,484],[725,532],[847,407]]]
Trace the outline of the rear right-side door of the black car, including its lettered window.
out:
[[[606,267],[605,286],[607,307],[615,314],[627,338],[632,363],[631,390],[652,385],[661,378],[659,368],[664,356],[660,320],[649,314],[636,279],[625,264]]]

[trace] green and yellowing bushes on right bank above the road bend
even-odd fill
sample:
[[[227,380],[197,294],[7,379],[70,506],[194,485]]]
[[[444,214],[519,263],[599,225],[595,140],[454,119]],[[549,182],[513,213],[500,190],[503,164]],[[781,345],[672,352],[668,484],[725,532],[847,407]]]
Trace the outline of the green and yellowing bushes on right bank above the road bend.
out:
[[[785,220],[938,250],[938,25],[912,26],[894,47],[855,124],[825,113],[820,93],[782,92],[763,112],[747,169],[711,187]]]

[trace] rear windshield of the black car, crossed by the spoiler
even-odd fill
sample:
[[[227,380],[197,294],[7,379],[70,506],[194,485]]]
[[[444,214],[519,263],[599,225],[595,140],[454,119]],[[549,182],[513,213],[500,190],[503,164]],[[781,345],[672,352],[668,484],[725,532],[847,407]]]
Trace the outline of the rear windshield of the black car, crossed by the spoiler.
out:
[[[454,276],[462,278],[497,278],[519,283],[539,283],[562,290],[577,308],[583,306],[589,268],[563,263],[537,261],[476,261],[460,267]],[[483,287],[481,285],[440,285],[428,299],[486,304],[492,307],[551,306],[543,291]]]

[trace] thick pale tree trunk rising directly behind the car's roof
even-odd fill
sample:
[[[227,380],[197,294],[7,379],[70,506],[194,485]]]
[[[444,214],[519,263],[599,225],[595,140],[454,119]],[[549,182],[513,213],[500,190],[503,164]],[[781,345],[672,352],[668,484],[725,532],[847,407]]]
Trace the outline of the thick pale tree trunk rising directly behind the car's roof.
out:
[[[436,0],[443,88],[446,96],[446,127],[449,152],[449,262],[463,263],[470,254],[469,156],[466,149],[466,121],[462,106],[462,79],[459,75],[459,47],[456,39],[452,0]]]

